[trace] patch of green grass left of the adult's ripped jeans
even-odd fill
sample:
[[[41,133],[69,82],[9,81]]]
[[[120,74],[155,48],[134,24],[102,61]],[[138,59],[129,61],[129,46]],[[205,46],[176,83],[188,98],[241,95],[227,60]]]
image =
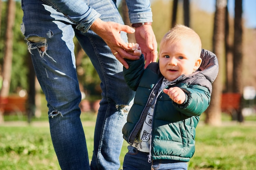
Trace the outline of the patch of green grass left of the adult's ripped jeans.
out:
[[[60,170],[47,127],[0,127],[2,170]]]

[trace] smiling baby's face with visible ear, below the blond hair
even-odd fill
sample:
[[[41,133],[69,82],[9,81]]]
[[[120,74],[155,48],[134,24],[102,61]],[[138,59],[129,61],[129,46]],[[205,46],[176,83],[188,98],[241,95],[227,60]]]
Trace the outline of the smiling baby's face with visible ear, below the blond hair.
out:
[[[197,70],[202,62],[197,50],[186,40],[162,43],[159,51],[159,69],[169,81],[180,75],[188,75]]]

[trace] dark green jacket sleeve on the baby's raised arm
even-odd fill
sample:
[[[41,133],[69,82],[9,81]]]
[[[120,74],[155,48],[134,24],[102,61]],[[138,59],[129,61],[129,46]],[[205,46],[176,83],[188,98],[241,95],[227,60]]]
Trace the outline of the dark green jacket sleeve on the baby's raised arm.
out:
[[[139,60],[128,60],[125,59],[129,65],[129,68],[124,67],[124,79],[128,86],[136,91],[139,86],[142,74],[144,73],[144,55],[141,54]]]

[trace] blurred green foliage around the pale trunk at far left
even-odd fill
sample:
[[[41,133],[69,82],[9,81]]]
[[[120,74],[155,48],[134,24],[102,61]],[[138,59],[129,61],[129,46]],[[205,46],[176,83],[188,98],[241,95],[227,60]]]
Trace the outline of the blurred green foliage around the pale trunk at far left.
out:
[[[27,74],[29,68],[26,65],[27,60],[27,44],[24,40],[24,35],[20,31],[20,23],[22,22],[23,12],[19,1],[16,2],[15,10],[15,23],[12,29],[13,33],[13,47],[12,47],[12,68],[11,68],[11,84],[9,93],[17,93],[20,89],[28,89]],[[8,18],[8,1],[2,2],[2,26],[1,26],[1,38],[0,38],[0,65],[2,74],[2,66],[4,64],[4,55],[6,48],[6,31],[7,24],[9,24]],[[1,83],[2,85],[2,83]],[[0,85],[0,86],[1,86]]]

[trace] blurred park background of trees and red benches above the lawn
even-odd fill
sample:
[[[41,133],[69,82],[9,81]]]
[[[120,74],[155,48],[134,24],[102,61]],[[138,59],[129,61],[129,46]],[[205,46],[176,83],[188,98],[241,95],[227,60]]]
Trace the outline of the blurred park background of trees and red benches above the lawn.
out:
[[[124,0],[117,5],[125,24],[131,25]],[[220,125],[223,117],[256,120],[256,1],[254,0],[151,0],[153,30],[159,43],[177,24],[194,29],[202,48],[215,53],[220,70],[213,83],[211,105],[204,123]],[[36,80],[27,44],[20,32],[20,1],[0,0],[0,123],[14,119],[47,119],[47,103]],[[135,42],[133,35],[128,35]],[[82,93],[82,113],[97,114],[100,80],[77,40],[76,67]]]

